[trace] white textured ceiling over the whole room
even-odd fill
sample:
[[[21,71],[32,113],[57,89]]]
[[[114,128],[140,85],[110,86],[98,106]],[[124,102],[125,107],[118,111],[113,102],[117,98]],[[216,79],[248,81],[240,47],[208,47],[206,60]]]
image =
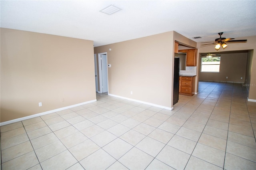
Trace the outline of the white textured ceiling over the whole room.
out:
[[[2,28],[93,40],[94,46],[176,31],[196,42],[256,35],[256,1],[0,1]],[[114,4],[112,15],[99,12]],[[193,39],[200,36],[202,39]]]

